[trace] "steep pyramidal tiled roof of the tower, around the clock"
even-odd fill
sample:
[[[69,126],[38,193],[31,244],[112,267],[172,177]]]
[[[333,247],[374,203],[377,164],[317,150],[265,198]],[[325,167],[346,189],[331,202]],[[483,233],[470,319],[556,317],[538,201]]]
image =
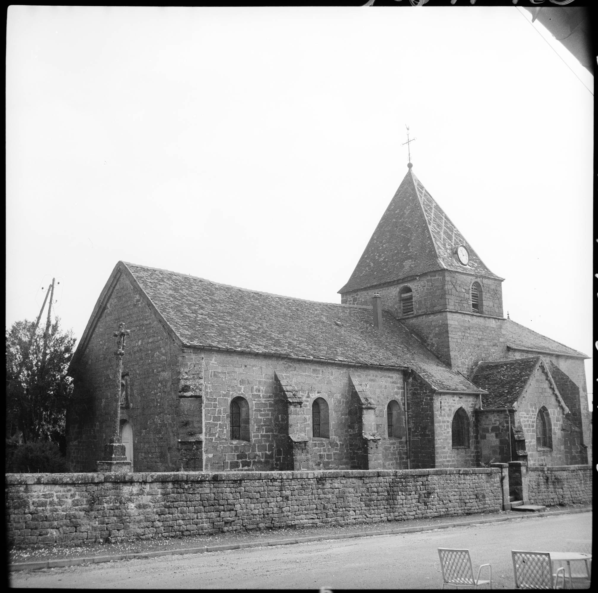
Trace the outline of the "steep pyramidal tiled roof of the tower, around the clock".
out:
[[[469,264],[454,249],[464,245]],[[409,168],[374,234],[339,293],[359,290],[437,270],[455,270],[503,280],[481,261],[459,229]]]

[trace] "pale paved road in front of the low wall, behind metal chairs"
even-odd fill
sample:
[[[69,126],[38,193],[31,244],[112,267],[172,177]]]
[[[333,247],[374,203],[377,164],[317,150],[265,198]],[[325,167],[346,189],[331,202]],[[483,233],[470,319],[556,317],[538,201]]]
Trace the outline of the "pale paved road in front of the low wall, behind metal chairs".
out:
[[[591,539],[592,513],[390,536],[163,556],[12,573],[19,588],[436,589],[437,548],[468,548],[474,571],[492,564],[495,589],[512,589],[512,549],[559,551]]]

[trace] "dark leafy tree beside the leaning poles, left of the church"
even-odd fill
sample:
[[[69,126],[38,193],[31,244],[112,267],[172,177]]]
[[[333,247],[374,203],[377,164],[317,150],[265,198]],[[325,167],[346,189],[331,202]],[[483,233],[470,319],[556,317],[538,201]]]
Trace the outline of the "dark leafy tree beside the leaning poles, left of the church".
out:
[[[51,324],[45,360],[44,328],[28,320],[13,323],[6,332],[7,437],[24,443],[54,441],[64,446],[65,416],[72,397],[67,376],[75,338]]]

